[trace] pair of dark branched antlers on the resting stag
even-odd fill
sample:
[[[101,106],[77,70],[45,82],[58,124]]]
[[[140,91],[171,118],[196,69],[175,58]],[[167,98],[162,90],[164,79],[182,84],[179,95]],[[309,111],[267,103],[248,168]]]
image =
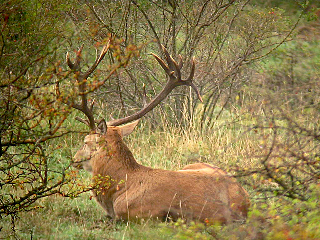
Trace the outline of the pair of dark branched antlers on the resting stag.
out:
[[[111,121],[107,122],[107,126],[119,126],[124,123],[128,123],[128,122],[140,119],[142,116],[144,116],[149,111],[151,111],[154,107],[156,107],[177,86],[181,86],[181,85],[191,86],[196,91],[196,94],[197,94],[197,97],[199,98],[199,100],[202,102],[202,98],[200,96],[199,90],[196,87],[196,85],[192,82],[192,79],[193,79],[193,76],[195,73],[195,58],[192,58],[192,61],[191,61],[191,71],[189,73],[189,77],[187,79],[183,80],[181,78],[181,72],[180,72],[180,70],[183,66],[182,57],[179,55],[179,63],[177,63],[171,57],[171,55],[168,53],[167,49],[163,45],[161,45],[161,46],[162,46],[162,50],[165,54],[165,59],[166,59],[167,63],[165,63],[165,61],[162,60],[156,54],[154,54],[154,53],[151,53],[151,54],[155,57],[155,59],[158,61],[158,63],[164,69],[166,74],[169,76],[169,80],[167,81],[164,88],[148,104],[146,103],[145,89],[143,89],[144,107],[140,111],[138,111],[130,116],[127,116],[127,117],[121,118],[121,119],[111,120]],[[88,118],[87,120],[82,119],[78,116],[75,119],[88,125],[92,131],[96,130],[95,122],[98,122],[98,121],[95,120],[95,118],[93,116],[93,111],[92,111],[93,105],[94,105],[94,100],[90,104],[87,101],[88,90],[87,90],[86,82],[87,82],[87,78],[89,77],[89,75],[95,70],[95,68],[98,66],[98,64],[101,62],[101,60],[106,55],[109,47],[110,47],[110,41],[103,47],[100,55],[96,58],[96,61],[94,62],[94,64],[86,72],[81,72],[81,70],[80,70],[81,51],[82,51],[83,46],[81,46],[80,49],[78,50],[74,62],[72,62],[70,60],[69,52],[66,55],[66,62],[68,64],[69,68],[71,69],[71,71],[76,76],[75,78],[77,80],[78,87],[79,87],[79,95],[81,96],[81,103],[80,104],[72,103],[69,100],[64,100],[63,102],[65,104],[83,112],[87,116],[87,118]],[[61,95],[60,90],[59,90],[59,83],[57,83],[57,85],[56,85],[56,95],[58,97]]]

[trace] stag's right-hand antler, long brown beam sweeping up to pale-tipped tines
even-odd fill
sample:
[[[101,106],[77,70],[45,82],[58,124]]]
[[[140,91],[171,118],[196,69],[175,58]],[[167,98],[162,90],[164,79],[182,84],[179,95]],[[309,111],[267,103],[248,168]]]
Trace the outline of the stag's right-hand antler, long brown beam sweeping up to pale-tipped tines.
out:
[[[182,68],[182,57],[179,56],[179,63],[177,63],[168,53],[168,51],[163,47],[163,51],[165,54],[165,58],[167,61],[168,66],[164,63],[164,61],[157,56],[154,53],[151,53],[157,62],[161,65],[161,67],[165,70],[166,74],[169,76],[169,80],[167,81],[164,88],[160,91],[160,93],[154,97],[147,105],[145,105],[140,111],[116,120],[111,120],[107,122],[107,126],[119,126],[124,123],[131,122],[133,120],[137,120],[147,114],[149,111],[151,111],[154,107],[156,107],[165,97],[177,86],[181,85],[188,85],[191,86],[197,94],[198,99],[202,102],[202,98],[200,96],[199,90],[196,87],[196,85],[192,82],[194,73],[195,73],[195,59],[192,59],[192,66],[191,66],[191,72],[189,74],[189,77],[185,80],[181,79],[181,72],[180,69]],[[176,76],[174,73],[176,72]]]

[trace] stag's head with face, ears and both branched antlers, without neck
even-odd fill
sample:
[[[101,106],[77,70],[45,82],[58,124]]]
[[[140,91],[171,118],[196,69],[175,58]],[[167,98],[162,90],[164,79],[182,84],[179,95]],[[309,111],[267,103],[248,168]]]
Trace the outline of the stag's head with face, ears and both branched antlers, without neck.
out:
[[[89,103],[87,101],[87,94],[88,89],[86,85],[86,80],[90,76],[90,74],[95,70],[95,68],[99,65],[101,60],[106,55],[109,47],[110,47],[110,41],[103,47],[101,53],[96,58],[94,64],[86,71],[81,72],[80,70],[80,62],[81,62],[81,52],[83,49],[83,46],[80,47],[78,52],[76,53],[75,61],[72,62],[69,57],[69,52],[66,55],[66,62],[71,69],[72,72],[75,73],[77,85],[79,87],[79,95],[81,96],[81,103],[71,103],[70,101],[64,101],[65,104],[80,110],[87,116],[87,120],[84,120],[80,117],[76,117],[76,120],[85,123],[87,126],[89,126],[92,134],[89,134],[84,139],[84,145],[79,149],[79,151],[76,153],[74,157],[74,163],[73,166],[76,168],[84,168],[88,171],[92,171],[90,166],[90,159],[92,158],[93,154],[97,152],[97,149],[99,148],[99,141],[101,141],[101,135],[106,135],[107,128],[111,127],[113,131],[117,131],[118,137],[127,136],[129,135],[134,128],[139,123],[139,120],[141,117],[146,115],[149,111],[151,111],[153,108],[155,108],[163,99],[166,98],[166,96],[175,88],[181,85],[187,85],[191,86],[196,94],[198,99],[202,102],[202,98],[200,96],[199,90],[196,87],[196,85],[192,82],[194,73],[195,73],[195,59],[192,58],[191,61],[191,71],[189,73],[188,78],[182,79],[181,76],[181,69],[183,67],[182,63],[182,57],[179,55],[179,63],[177,63],[172,56],[168,53],[166,48],[162,46],[162,50],[164,52],[165,61],[162,60],[159,56],[157,56],[154,53],[151,53],[155,59],[158,61],[158,63],[161,65],[161,67],[164,69],[168,76],[168,81],[164,88],[160,91],[160,93],[154,97],[148,104],[145,104],[145,106],[138,112],[116,120],[111,120],[106,122],[104,119],[102,120],[95,120],[94,114],[93,114],[93,106],[94,101]],[[145,90],[144,90],[145,94]],[[60,90],[59,90],[59,84],[56,85],[56,95],[59,97]],[[96,126],[95,123],[98,123]],[[127,124],[125,124],[127,123]],[[125,124],[125,125],[122,125]],[[111,132],[111,131],[110,131]],[[110,133],[111,134],[111,133]]]

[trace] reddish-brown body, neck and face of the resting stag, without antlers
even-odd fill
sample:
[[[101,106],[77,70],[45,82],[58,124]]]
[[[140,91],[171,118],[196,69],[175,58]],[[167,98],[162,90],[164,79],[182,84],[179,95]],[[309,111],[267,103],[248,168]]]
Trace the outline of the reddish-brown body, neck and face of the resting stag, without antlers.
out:
[[[124,144],[119,127],[86,136],[74,166],[112,183],[96,191],[97,202],[115,219],[167,217],[226,223],[246,217],[246,191],[226,172],[210,164],[190,164],[179,171],[138,164]],[[115,180],[115,182],[113,182]],[[121,180],[124,183],[119,184]]]

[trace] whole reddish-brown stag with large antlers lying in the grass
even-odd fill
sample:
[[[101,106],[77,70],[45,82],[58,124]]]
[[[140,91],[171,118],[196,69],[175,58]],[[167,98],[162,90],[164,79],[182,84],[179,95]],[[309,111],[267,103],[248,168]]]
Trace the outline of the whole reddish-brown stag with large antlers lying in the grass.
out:
[[[96,127],[93,104],[87,102],[84,80],[102,60],[108,46],[109,44],[104,47],[93,66],[85,73],[80,72],[79,66],[82,48],[78,51],[74,63],[70,61],[69,54],[66,57],[68,66],[76,73],[82,98],[81,104],[67,104],[88,117],[88,120],[79,117],[77,119],[87,124],[92,132],[85,137],[84,145],[77,151],[72,165],[91,172],[93,181],[98,181],[98,176],[112,179],[110,184],[102,184],[94,191],[97,202],[110,217],[125,221],[151,217],[161,220],[183,218],[227,223],[244,219],[249,206],[248,194],[235,178],[228,176],[222,169],[206,163],[190,164],[179,171],[146,167],[134,159],[122,139],[134,130],[142,116],[157,106],[177,86],[191,86],[202,101],[196,85],[192,82],[194,58],[189,77],[183,80],[180,72],[181,56],[177,63],[163,47],[165,63],[152,53],[169,77],[165,87],[137,113],[109,122],[102,119]],[[57,95],[60,94],[59,86],[56,92]],[[128,124],[122,125],[123,123]]]

